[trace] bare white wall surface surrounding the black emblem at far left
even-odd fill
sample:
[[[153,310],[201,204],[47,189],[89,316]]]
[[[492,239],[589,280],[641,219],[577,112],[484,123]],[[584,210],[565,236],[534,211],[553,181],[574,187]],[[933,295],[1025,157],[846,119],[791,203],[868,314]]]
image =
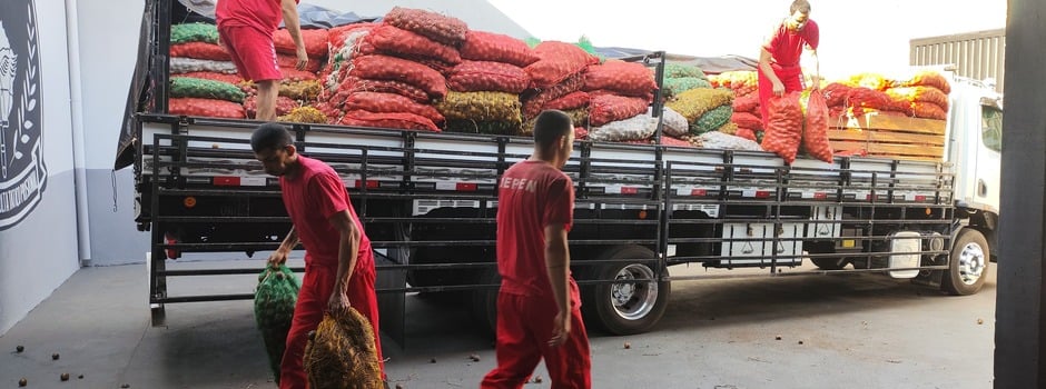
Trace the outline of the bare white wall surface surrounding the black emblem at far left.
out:
[[[30,54],[27,20],[29,3],[36,3],[37,48],[39,56]],[[40,96],[38,106],[17,101],[24,111],[38,111],[23,117],[34,121],[31,127],[21,126],[20,134],[28,134],[29,142],[17,139],[18,147],[29,151],[42,131],[40,156],[47,169],[46,184],[40,202],[18,223],[0,231],[0,335],[23,318],[40,301],[50,296],[58,286],[78,268],[76,198],[73,184],[72,133],[69,114],[69,72],[66,51],[66,11],[62,0],[3,0],[0,4],[0,21],[18,54],[17,80],[28,76],[27,67],[39,66],[36,80]],[[19,32],[16,32],[19,31]],[[16,33],[21,37],[16,38]],[[4,39],[0,38],[0,43]],[[2,49],[2,44],[0,44]],[[34,57],[30,60],[30,57]],[[18,88],[16,89],[18,90]],[[22,88],[24,90],[24,88]],[[28,94],[29,99],[33,94]],[[18,110],[18,108],[14,108]],[[0,112],[3,113],[3,112]],[[17,124],[17,123],[12,123]],[[13,127],[3,131],[10,136]],[[10,139],[10,138],[9,138]],[[8,146],[11,141],[8,140]],[[10,149],[9,149],[10,152]],[[23,153],[26,156],[26,153]],[[24,171],[24,170],[22,170]],[[13,171],[7,179],[0,178],[0,188],[10,184]],[[2,191],[2,190],[0,190]]]

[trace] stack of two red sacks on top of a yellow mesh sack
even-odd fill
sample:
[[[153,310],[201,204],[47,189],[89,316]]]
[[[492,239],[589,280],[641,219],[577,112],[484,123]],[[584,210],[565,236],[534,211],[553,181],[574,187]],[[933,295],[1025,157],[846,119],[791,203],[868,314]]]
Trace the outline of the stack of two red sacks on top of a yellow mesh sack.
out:
[[[509,36],[468,31],[461,57],[447,73],[446,99],[436,104],[447,119],[446,130],[523,133],[520,94],[532,83],[524,68],[540,60],[537,53]]]

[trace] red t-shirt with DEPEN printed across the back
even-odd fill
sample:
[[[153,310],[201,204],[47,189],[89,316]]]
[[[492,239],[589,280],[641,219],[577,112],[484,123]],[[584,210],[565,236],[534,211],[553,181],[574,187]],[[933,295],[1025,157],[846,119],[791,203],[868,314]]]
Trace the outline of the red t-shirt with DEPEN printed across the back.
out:
[[[573,212],[574,184],[559,169],[527,160],[505,171],[497,198],[497,270],[502,292],[554,299],[545,267],[545,227],[563,223],[569,231]],[[568,289],[571,301],[579,307],[573,278]]]

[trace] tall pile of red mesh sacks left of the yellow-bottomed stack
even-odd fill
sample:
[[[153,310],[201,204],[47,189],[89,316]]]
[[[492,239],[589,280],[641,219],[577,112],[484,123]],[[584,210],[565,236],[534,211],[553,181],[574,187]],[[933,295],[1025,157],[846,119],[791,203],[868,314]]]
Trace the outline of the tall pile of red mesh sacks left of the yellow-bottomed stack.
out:
[[[445,117],[433,103],[447,97],[444,73],[462,63],[467,31],[461,20],[399,7],[381,24],[335,29],[322,110],[344,126],[440,131]]]

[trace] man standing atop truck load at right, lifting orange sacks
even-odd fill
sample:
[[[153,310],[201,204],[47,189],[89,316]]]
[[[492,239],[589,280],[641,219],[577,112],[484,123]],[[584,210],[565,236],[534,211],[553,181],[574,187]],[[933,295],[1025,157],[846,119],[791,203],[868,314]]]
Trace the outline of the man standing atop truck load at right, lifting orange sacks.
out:
[[[818,67],[817,44],[820,30],[817,23],[810,20],[810,3],[807,0],[795,0],[789,12],[789,17],[777,26],[760,48],[759,109],[763,124],[770,118],[769,103],[772,96],[783,96],[786,92],[803,89],[802,69],[799,67],[803,48],[811,51],[815,67]],[[813,88],[817,88],[820,84],[818,76],[812,79]]]

